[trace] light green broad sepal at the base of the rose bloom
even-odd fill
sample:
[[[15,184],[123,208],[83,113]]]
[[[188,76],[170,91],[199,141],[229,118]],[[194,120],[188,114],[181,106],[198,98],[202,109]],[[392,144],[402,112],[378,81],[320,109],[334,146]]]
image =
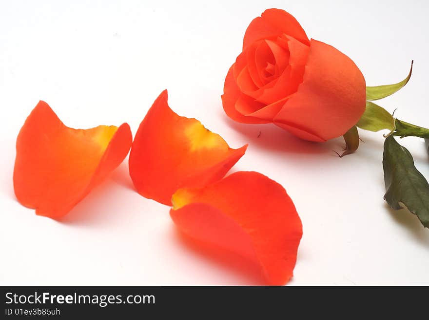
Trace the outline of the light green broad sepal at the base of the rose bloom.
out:
[[[373,132],[383,129],[389,129],[391,132],[395,129],[395,119],[383,107],[367,101],[365,112],[356,126]]]

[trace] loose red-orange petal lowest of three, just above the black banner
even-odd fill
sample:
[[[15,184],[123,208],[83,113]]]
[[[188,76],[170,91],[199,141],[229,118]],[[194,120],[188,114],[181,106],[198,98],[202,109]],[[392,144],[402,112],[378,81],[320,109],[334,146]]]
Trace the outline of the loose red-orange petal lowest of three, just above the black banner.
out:
[[[258,172],[235,172],[203,188],[179,189],[170,215],[179,230],[260,266],[271,285],[292,277],[301,220],[285,189]]]

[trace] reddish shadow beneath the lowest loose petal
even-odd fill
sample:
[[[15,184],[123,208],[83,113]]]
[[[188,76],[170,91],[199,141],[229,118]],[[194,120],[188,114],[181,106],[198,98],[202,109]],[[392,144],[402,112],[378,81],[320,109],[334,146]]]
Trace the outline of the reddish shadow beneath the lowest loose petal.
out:
[[[252,285],[266,285],[261,269],[254,261],[234,252],[196,240],[174,228],[175,238],[183,246],[207,259],[217,267],[232,271]]]

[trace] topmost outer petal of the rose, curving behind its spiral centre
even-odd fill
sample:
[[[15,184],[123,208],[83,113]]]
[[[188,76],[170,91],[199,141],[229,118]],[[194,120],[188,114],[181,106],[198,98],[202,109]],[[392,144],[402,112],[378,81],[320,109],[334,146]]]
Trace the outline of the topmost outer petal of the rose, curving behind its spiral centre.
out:
[[[277,36],[287,34],[309,45],[310,41],[298,21],[281,9],[267,9],[261,17],[255,18],[248,26],[243,40],[243,51],[255,41],[275,40]]]

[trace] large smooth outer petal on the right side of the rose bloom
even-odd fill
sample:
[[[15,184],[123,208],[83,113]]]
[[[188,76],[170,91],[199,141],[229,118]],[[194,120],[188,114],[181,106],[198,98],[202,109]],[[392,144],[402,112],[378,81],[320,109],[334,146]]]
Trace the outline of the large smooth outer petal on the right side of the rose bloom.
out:
[[[327,72],[329,70],[329,72]],[[365,111],[365,79],[349,57],[334,47],[311,41],[304,81],[274,118],[280,127],[298,128],[303,139],[320,141],[347,132]]]

